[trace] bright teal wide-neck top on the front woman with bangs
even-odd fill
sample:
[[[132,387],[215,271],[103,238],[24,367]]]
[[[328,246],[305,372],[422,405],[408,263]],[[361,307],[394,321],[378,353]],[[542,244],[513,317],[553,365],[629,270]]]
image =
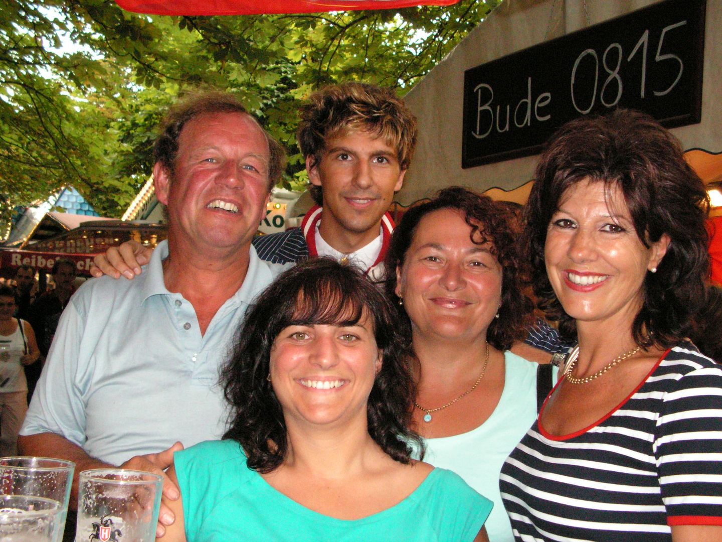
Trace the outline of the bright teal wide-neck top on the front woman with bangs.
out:
[[[337,520],[269,486],[232,440],[176,452],[175,471],[188,542],[471,542],[493,506],[458,475],[435,468],[396,506]]]

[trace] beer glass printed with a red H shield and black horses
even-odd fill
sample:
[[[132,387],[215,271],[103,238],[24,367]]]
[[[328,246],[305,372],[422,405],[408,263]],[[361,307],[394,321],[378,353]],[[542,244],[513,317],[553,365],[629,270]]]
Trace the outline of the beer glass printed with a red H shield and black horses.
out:
[[[80,473],[76,542],[155,542],[163,478],[140,470]]]

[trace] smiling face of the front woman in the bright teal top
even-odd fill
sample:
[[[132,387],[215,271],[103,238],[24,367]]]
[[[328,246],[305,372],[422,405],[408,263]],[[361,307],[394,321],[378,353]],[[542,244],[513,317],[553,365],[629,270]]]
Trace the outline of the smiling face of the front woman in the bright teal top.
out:
[[[270,375],[286,423],[365,423],[381,366],[367,317],[356,325],[293,325],[274,341]]]

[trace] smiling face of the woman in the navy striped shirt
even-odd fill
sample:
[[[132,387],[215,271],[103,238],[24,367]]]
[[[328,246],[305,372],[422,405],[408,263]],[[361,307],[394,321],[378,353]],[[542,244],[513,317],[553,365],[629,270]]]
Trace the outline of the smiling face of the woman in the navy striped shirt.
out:
[[[578,322],[617,322],[631,329],[644,301],[647,272],[669,237],[647,248],[616,184],[583,180],[562,195],[547,230],[544,257],[562,307]]]

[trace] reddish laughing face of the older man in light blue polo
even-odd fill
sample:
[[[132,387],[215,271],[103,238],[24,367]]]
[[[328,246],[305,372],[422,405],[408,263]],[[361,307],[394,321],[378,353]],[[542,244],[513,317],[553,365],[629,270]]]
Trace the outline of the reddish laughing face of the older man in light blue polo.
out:
[[[251,116],[213,113],[186,123],[174,171],[155,165],[158,200],[175,243],[240,250],[251,243],[269,199],[269,145]]]

